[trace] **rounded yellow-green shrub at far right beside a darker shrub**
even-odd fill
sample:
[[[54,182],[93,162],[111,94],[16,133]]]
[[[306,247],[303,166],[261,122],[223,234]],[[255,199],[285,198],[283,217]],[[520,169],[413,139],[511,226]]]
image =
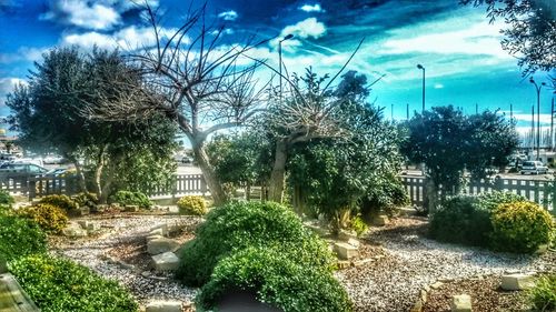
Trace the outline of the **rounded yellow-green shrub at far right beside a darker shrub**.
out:
[[[492,221],[492,245],[496,250],[529,253],[550,242],[552,217],[536,203],[500,204],[493,211]]]

